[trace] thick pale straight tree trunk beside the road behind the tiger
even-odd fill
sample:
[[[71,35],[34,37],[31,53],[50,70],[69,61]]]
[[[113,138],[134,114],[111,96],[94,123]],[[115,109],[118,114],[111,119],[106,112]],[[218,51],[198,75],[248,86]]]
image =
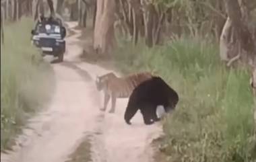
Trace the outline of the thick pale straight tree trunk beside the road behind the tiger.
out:
[[[98,0],[94,30],[94,49],[107,53],[115,44],[115,0]]]

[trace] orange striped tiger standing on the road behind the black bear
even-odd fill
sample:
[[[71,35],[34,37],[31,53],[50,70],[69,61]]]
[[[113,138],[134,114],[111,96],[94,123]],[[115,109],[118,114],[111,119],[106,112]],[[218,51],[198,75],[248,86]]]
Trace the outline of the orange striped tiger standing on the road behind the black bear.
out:
[[[106,110],[106,106],[112,97],[112,107],[109,113],[115,112],[115,104],[117,98],[127,98],[131,95],[133,89],[152,77],[151,73],[135,73],[125,77],[117,77],[114,73],[107,73],[96,77],[96,87],[98,91],[104,92],[104,106],[102,111]]]

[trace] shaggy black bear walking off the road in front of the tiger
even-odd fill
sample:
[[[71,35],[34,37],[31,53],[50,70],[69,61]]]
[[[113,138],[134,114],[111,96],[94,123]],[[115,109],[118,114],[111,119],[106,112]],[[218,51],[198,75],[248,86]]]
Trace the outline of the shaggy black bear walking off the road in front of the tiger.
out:
[[[149,125],[160,120],[156,116],[157,106],[164,106],[165,112],[174,110],[179,102],[179,95],[160,77],[152,77],[139,84],[129,97],[125,110],[125,122],[131,124],[130,120],[141,111],[144,123]]]

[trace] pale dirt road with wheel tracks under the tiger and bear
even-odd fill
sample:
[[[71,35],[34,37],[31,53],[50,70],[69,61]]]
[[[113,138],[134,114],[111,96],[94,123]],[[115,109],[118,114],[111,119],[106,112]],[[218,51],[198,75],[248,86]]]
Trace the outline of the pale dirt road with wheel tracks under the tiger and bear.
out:
[[[48,108],[32,118],[17,138],[13,151],[1,153],[2,162],[65,162],[84,136],[91,136],[92,161],[150,162],[152,138],[161,132],[159,125],[146,126],[141,114],[133,125],[125,124],[123,114],[127,99],[117,100],[115,114],[100,112],[102,93],[96,91],[96,75],[108,71],[79,59],[80,32],[68,37],[63,63],[53,64],[56,89]],[[109,108],[109,105],[108,105]]]

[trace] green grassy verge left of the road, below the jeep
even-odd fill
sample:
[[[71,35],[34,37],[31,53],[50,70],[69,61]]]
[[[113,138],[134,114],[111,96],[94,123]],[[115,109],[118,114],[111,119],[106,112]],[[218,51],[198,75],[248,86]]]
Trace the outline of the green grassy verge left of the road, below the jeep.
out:
[[[30,42],[32,26],[30,18],[5,26],[5,44],[1,46],[1,150],[11,146],[26,119],[51,97],[53,71]]]

